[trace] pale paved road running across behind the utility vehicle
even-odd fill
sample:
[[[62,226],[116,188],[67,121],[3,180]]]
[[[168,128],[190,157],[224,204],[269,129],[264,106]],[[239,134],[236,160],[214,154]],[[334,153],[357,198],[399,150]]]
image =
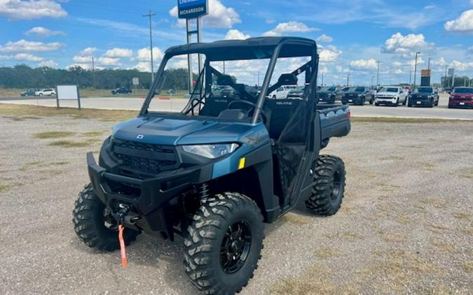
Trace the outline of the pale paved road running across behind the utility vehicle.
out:
[[[100,97],[81,99],[83,108],[139,110],[144,99],[133,97]],[[0,103],[18,103],[38,106],[56,106],[55,99],[0,99]],[[60,101],[61,106],[76,107],[76,101]],[[184,99],[156,100],[153,108],[179,111],[186,105]],[[352,115],[359,117],[420,117],[440,119],[473,120],[473,110],[448,109],[448,94],[441,94],[439,106],[435,108],[407,108],[399,106],[350,106]]]

